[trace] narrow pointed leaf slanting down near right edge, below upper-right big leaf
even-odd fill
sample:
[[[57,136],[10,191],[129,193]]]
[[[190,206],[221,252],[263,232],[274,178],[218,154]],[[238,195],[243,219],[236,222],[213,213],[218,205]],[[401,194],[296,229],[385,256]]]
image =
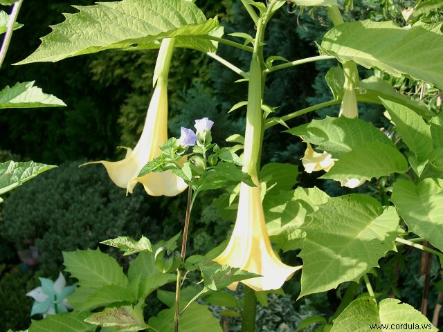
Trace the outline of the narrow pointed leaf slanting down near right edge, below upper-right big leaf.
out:
[[[413,151],[420,163],[427,160],[426,157],[433,150],[429,125],[421,116],[402,104],[383,99],[381,102],[388,110],[392,122],[395,123],[398,133],[410,151]]]

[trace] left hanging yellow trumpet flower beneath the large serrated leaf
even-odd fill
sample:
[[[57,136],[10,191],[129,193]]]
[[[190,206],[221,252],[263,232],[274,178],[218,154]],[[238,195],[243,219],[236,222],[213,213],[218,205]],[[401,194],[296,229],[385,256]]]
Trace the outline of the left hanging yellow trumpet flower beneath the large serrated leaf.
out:
[[[134,150],[127,148],[125,159],[120,161],[101,160],[87,163],[104,165],[111,181],[118,187],[126,188],[130,193],[137,183],[143,184],[145,191],[151,196],[176,196],[188,187],[182,178],[171,171],[152,172],[138,177],[138,173],[147,162],[160,156],[159,147],[168,140],[168,71],[173,48],[174,39],[163,39],[154,73],[156,86],[147,109],[141,138]]]

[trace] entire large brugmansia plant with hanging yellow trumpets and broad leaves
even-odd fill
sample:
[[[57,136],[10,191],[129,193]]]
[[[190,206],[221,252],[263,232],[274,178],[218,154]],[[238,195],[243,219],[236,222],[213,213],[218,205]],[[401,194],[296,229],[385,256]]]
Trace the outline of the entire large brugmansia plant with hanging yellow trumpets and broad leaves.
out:
[[[442,113],[399,93],[381,77],[408,77],[411,82],[431,84],[440,93],[442,23],[419,21],[423,7],[417,7],[415,15],[408,16],[414,17],[409,19],[410,25],[402,27],[392,21],[345,22],[335,0],[241,3],[251,18],[251,27],[255,27],[255,36],[231,36],[244,39],[244,43],[223,37],[217,17],[206,19],[192,1],[123,0],[75,7],[79,12],[66,15],[66,21],[53,26],[53,32],[42,38],[35,53],[19,62],[55,62],[107,49],[160,48],[154,75],[157,85],[141,140],[134,150],[128,149],[124,160],[100,163],[107,167],[112,181],[128,192],[136,182],[143,183],[153,195],[172,196],[188,187],[181,234],[155,245],[147,237],[104,242],[122,249],[123,255],[137,254],[126,274],[99,250],[65,252],[66,271],[79,285],[69,297],[73,311],[34,321],[30,332],[68,331],[66,326],[70,326],[69,331],[96,331],[97,326],[103,331],[221,331],[208,304],[224,299],[227,306],[238,308],[235,297],[226,292],[238,283],[244,290],[242,331],[255,331],[257,296],[278,291],[300,273],[299,298],[338,286],[347,289],[332,317],[311,317],[303,326],[318,322],[320,331],[341,332],[437,331],[409,304],[377,293],[372,274],[379,260],[389,259],[402,246],[436,255],[441,268]],[[291,62],[278,55],[265,59],[266,27],[275,12],[294,4],[325,6],[334,27],[318,44],[319,55]],[[290,30],[280,33],[289,34]],[[251,55],[248,71],[217,55],[219,43]],[[180,138],[168,139],[166,77],[174,47],[204,52],[242,77],[240,82],[247,82],[247,101],[232,108],[247,105],[245,131],[227,139],[237,145],[221,148],[212,142],[210,130],[217,124],[208,118],[196,120],[197,132],[182,128]],[[333,98],[269,118],[273,107],[264,104],[266,76],[327,59],[337,62],[325,77]],[[277,60],[283,63],[273,64]],[[357,65],[375,68],[378,75],[360,80]],[[357,103],[363,102],[386,109],[394,126],[388,135],[386,129],[359,118]],[[334,104],[341,104],[338,117],[289,127],[293,118]],[[302,158],[306,172],[326,171],[321,179],[340,181],[350,188],[370,183],[373,192],[331,197],[316,187],[293,189],[297,165],[271,163],[261,167],[264,132],[277,124],[287,127],[282,137],[292,135],[307,143]],[[204,256],[186,257],[190,215],[198,194],[231,187],[235,189],[228,192],[229,204],[238,200],[238,207],[227,244]],[[181,250],[177,250],[179,237]],[[280,252],[287,252],[285,257],[292,255],[292,261],[298,256],[302,265],[285,264]],[[201,273],[202,282],[189,284],[186,276],[192,271]],[[175,293],[159,290],[172,282],[176,283]],[[366,292],[357,296],[360,289]],[[169,308],[145,317],[145,299],[156,290]],[[197,303],[197,299],[201,301]]]

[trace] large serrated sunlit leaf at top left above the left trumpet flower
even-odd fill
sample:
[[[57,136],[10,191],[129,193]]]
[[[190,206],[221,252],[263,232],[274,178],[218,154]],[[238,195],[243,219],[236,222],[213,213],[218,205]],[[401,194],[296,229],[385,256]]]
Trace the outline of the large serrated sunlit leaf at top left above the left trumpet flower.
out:
[[[208,35],[218,26],[217,19],[206,20],[187,0],[123,0],[74,7],[80,12],[65,14],[66,21],[53,26],[42,45],[19,64],[56,62],[134,44],[152,48],[158,39]]]

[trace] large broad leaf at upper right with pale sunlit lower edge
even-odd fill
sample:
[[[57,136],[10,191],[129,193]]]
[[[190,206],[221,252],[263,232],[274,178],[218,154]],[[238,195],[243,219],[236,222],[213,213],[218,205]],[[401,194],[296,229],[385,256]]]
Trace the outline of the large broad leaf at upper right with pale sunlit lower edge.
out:
[[[353,60],[366,68],[443,88],[443,35],[424,24],[400,28],[392,21],[347,22],[329,30],[321,47],[340,62]]]

